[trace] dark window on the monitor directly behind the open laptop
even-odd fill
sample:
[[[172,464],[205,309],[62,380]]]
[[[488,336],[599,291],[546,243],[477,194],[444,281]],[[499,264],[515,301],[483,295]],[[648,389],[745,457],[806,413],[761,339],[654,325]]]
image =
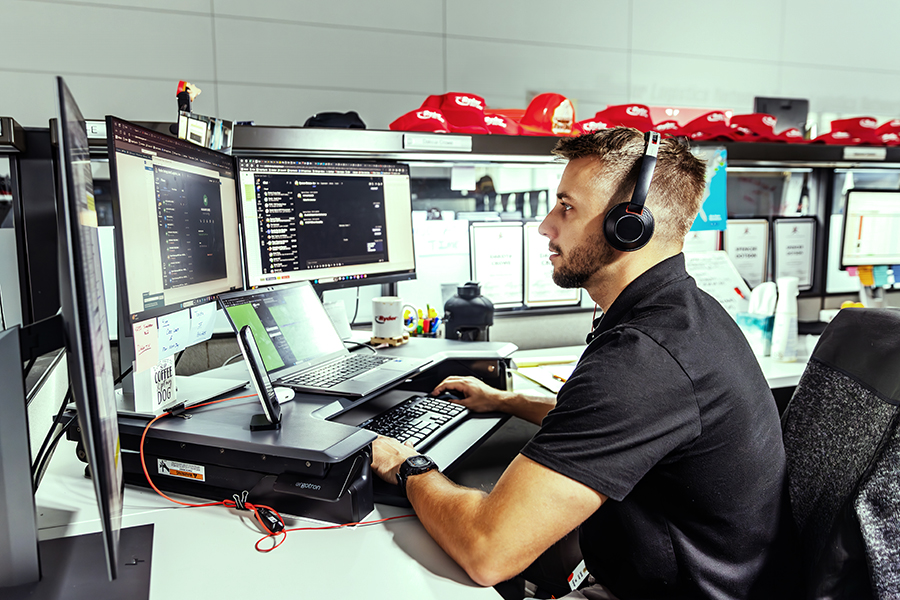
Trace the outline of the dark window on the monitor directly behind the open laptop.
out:
[[[381,177],[257,175],[263,273],[388,260]]]

